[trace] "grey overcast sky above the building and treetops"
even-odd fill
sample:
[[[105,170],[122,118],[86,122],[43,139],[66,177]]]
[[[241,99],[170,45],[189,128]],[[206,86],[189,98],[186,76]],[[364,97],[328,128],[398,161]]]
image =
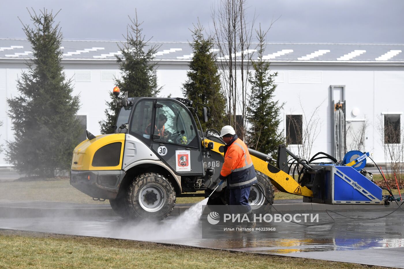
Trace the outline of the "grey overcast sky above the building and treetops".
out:
[[[25,38],[26,10],[61,11],[56,17],[65,39],[123,40],[135,8],[143,34],[154,41],[191,40],[198,17],[212,28],[218,0],[1,0],[0,38]],[[272,26],[268,42],[404,43],[403,0],[250,0],[248,17]]]

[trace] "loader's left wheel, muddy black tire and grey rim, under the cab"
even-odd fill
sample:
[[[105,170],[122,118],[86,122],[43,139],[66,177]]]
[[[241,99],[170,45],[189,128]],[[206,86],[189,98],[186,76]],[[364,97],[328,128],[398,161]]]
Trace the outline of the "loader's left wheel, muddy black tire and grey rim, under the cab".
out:
[[[125,203],[131,218],[163,220],[175,206],[173,184],[158,173],[140,174],[129,184]]]

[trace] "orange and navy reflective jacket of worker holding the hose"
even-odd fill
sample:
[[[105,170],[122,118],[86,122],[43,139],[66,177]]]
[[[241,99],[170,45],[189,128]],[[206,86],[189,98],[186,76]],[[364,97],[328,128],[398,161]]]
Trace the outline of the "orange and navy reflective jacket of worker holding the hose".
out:
[[[225,162],[220,175],[227,177],[227,186],[230,189],[244,188],[257,183],[257,175],[248,148],[237,136],[225,146]]]

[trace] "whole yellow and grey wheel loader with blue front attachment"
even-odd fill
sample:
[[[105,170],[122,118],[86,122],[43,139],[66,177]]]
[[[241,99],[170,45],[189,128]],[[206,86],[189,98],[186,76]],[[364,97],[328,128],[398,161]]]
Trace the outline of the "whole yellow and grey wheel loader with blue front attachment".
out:
[[[119,94],[117,89],[114,92]],[[207,197],[217,187],[225,143],[216,130],[202,132],[192,116],[202,109],[206,122],[207,106],[182,98],[128,98],[126,94],[117,105],[114,133],[95,137],[87,131],[88,139],[74,149],[71,185],[95,200],[109,200],[124,218],[156,220],[170,215],[177,197]],[[331,164],[311,164],[284,145],[279,147],[277,160],[249,151],[258,179],[249,197],[255,212],[273,203],[274,185],[303,196],[304,202],[384,204],[387,199],[363,169],[352,165],[360,156],[351,156],[347,166],[348,161],[343,164],[332,156],[324,157]],[[365,161],[362,158],[360,167]],[[290,175],[296,169],[298,180]],[[227,202],[224,183],[209,203]]]

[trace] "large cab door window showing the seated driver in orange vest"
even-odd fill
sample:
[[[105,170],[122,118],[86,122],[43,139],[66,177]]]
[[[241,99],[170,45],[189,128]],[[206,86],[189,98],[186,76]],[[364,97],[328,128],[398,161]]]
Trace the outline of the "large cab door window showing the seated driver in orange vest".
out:
[[[154,140],[198,147],[196,130],[185,107],[170,100],[157,101],[162,107],[156,108]]]

